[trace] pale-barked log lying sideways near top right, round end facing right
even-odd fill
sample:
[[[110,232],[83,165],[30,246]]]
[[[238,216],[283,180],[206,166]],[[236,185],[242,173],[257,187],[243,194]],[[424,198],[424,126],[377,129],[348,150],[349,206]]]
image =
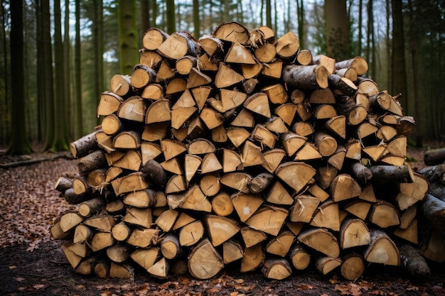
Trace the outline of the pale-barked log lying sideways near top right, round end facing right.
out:
[[[326,89],[328,87],[329,72],[322,65],[288,65],[282,72],[282,80],[298,89]]]

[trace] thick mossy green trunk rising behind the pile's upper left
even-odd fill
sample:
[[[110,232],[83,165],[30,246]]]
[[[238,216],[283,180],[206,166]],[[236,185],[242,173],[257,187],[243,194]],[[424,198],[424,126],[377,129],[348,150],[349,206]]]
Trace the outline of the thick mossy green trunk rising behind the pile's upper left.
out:
[[[118,0],[120,73],[130,75],[139,60],[136,36],[136,0]]]

